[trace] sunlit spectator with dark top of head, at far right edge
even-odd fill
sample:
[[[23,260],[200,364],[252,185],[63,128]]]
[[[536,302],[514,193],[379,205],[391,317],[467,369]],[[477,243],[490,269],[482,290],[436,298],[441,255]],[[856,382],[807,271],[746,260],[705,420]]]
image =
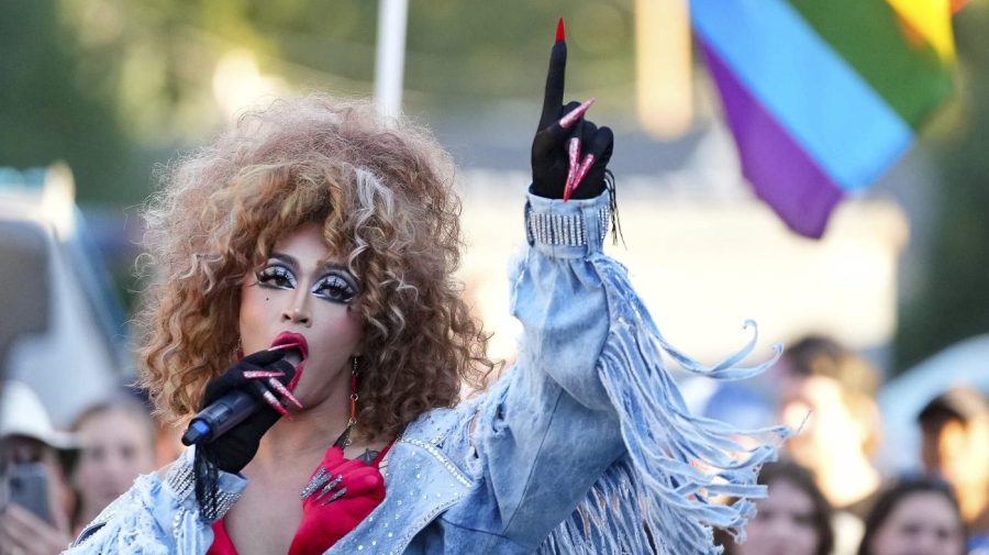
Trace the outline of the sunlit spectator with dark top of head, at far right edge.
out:
[[[916,417],[924,471],[951,484],[968,526],[968,553],[989,554],[989,401],[957,387]]]

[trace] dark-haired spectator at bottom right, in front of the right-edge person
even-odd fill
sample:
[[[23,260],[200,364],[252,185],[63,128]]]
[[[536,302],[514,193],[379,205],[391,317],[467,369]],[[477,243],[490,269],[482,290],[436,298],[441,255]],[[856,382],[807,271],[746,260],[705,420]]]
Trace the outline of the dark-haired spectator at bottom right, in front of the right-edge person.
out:
[[[910,478],[885,489],[866,515],[858,555],[964,555],[965,525],[947,484]]]

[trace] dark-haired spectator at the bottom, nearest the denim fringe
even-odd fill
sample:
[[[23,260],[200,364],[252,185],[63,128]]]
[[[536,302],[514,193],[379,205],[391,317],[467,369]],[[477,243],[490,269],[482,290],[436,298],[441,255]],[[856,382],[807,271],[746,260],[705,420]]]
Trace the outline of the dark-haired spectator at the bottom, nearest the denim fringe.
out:
[[[768,464],[759,484],[769,488],[756,501],[756,515],[745,529],[745,541],[721,536],[725,555],[830,555],[834,547],[831,506],[810,470],[792,462]]]

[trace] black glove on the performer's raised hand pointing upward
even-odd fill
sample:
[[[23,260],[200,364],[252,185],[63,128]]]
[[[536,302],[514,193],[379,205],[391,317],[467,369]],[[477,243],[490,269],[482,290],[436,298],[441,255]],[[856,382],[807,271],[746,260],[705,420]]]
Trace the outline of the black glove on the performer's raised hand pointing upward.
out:
[[[532,141],[532,192],[547,199],[564,197],[570,168],[567,143],[570,137],[578,137],[581,145],[578,164],[588,154],[593,155],[594,160],[570,198],[590,199],[604,191],[604,176],[614,148],[614,134],[611,129],[599,129],[582,116],[568,129],[560,125],[560,119],[580,106],[579,102],[563,106],[566,67],[567,43],[558,41],[549,54],[543,114]]]

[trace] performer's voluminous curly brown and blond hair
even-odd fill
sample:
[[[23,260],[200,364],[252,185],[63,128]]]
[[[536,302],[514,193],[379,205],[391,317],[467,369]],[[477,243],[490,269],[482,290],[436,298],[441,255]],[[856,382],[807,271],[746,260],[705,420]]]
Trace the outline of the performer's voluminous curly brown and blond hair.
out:
[[[393,437],[480,388],[487,336],[453,276],[459,199],[449,156],[424,130],[321,95],[247,112],[177,159],[145,210],[151,275],[141,382],[184,418],[236,359],[241,286],[275,243],[315,222],[360,284],[359,433]]]

